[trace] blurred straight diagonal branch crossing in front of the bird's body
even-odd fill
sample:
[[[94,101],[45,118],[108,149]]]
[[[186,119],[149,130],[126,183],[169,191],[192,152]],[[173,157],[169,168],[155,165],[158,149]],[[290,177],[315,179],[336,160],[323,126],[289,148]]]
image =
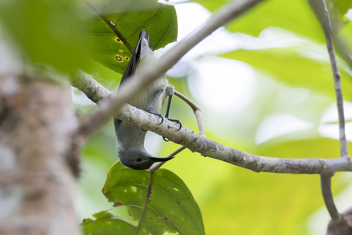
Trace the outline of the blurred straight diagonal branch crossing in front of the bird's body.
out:
[[[151,82],[158,78],[160,74],[172,68],[172,66],[197,43],[230,20],[240,16],[260,1],[263,0],[233,1],[231,4],[222,8],[213,18],[210,18],[208,22],[200,27],[192,36],[176,44],[175,47],[166,52],[159,60],[151,63],[145,70],[135,74],[128,82],[122,84],[121,86],[123,87],[119,89],[115,98],[107,101],[101,109],[95,111],[90,116],[89,128],[91,128],[91,132],[94,132],[105,124],[114,113],[117,113],[121,109],[122,105],[136,97],[140,91],[149,87]]]

